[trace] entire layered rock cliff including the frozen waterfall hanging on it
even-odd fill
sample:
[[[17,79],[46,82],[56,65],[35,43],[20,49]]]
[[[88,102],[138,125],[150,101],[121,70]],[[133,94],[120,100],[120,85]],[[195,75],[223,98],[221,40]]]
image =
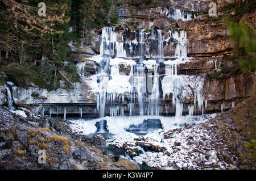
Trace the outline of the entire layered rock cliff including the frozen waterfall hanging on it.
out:
[[[126,5],[119,7],[118,26],[93,30],[91,43],[82,42],[77,58],[81,79],[75,89],[14,86],[14,103],[64,117],[192,115],[229,109],[252,94],[255,74],[205,77],[219,71],[222,55],[234,48],[224,22],[205,18],[209,2],[170,1],[170,8],[133,12]],[[131,22],[136,26],[129,26]],[[146,76],[137,75],[141,73]]]

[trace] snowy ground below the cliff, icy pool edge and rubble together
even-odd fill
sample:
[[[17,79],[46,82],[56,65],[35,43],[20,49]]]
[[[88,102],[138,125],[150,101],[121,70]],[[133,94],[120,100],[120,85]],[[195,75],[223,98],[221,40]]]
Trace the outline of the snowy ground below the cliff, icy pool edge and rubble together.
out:
[[[108,146],[125,150],[127,155],[141,165],[146,164],[155,169],[227,169],[232,165],[220,161],[216,155],[215,146],[222,142],[213,143],[213,125],[201,124],[214,116],[121,116],[103,119],[107,121],[109,133],[113,133],[107,140]],[[125,131],[131,124],[138,125],[146,119],[159,119],[163,129],[146,135]],[[74,132],[90,134],[96,132],[95,124],[100,120],[102,118],[69,121]]]

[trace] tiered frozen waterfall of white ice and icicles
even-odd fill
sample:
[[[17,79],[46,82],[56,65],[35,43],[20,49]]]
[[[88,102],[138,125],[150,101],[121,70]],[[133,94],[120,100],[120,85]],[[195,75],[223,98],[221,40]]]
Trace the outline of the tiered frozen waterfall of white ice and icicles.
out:
[[[172,14],[174,19],[185,18],[183,16],[181,12]],[[183,102],[191,97],[194,104],[188,106],[189,115],[196,111],[203,113],[204,78],[177,73],[177,68],[189,60],[187,32],[170,30],[167,37],[165,40],[162,30],[155,29],[135,32],[128,28],[122,31],[112,27],[102,29],[100,55],[91,58],[100,66],[89,83],[97,95],[100,117],[108,111],[110,116],[159,116],[164,108],[166,112],[175,108],[176,117],[181,117]],[[167,45],[174,50],[171,57],[165,56]],[[77,64],[81,76],[85,75],[86,64]],[[162,65],[164,75],[159,75]],[[171,106],[163,106],[162,97],[163,101],[170,97]]]

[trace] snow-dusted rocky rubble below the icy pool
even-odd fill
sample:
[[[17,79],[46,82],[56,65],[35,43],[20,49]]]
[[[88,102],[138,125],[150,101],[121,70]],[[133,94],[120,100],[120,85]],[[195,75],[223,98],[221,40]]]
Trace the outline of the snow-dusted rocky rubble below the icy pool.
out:
[[[217,156],[213,157],[218,153],[216,148],[223,144],[216,140],[213,129],[207,123],[203,123],[165,132],[158,130],[137,138],[115,137],[107,142],[108,145],[133,153],[130,156],[137,163],[155,169],[230,168],[233,166],[232,163],[226,163]]]

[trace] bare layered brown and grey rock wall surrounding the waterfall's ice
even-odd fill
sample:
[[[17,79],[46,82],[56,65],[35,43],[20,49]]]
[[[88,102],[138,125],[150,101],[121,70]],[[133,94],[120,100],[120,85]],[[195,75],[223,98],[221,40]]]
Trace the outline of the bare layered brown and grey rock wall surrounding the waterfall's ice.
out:
[[[220,19],[207,19],[205,10],[208,10],[208,3],[210,0],[205,1],[170,1],[171,8],[156,7],[145,10],[131,10],[126,5],[119,7],[119,24],[115,25],[115,33],[118,34],[118,42],[124,45],[123,49],[126,50],[127,57],[137,57],[141,54],[139,51],[139,44],[142,29],[146,32],[143,34],[143,42],[146,43],[145,56],[158,55],[158,48],[154,43],[159,45],[159,36],[163,36],[163,55],[171,57],[175,53],[176,43],[173,40],[173,30],[177,32],[187,31],[187,52],[190,60],[177,67],[177,73],[181,76],[191,78],[191,82],[187,84],[191,89],[187,89],[185,99],[183,99],[184,108],[183,113],[189,113],[189,106],[191,106],[195,99],[195,87],[193,87],[193,77],[205,77],[207,73],[213,73],[214,70],[218,71],[222,62],[222,54],[232,53],[234,45],[228,37],[228,31],[224,22]],[[218,7],[224,6],[227,3],[233,3],[232,0],[217,1]],[[191,11],[201,11],[199,14],[192,16]],[[254,12],[255,14],[255,12]],[[253,14],[253,15],[254,15]],[[255,30],[253,20],[248,17],[254,18],[251,14],[242,16],[247,24]],[[136,26],[129,25],[130,22],[135,23]],[[151,28],[151,30],[150,30]],[[156,29],[154,32],[152,30]],[[159,35],[158,30],[162,31]],[[154,37],[152,38],[152,36]],[[82,115],[93,117],[97,116],[96,104],[97,96],[95,85],[97,82],[97,71],[99,70],[99,62],[90,59],[90,56],[100,54],[102,30],[92,30],[89,33],[90,43],[87,40],[82,40],[81,52],[76,58],[76,62],[82,63],[81,67],[78,65],[78,70],[83,74],[80,83],[76,83],[73,90],[58,89],[48,91],[46,89],[39,89],[38,87],[31,87],[30,89],[19,89],[13,87],[12,94],[14,103],[18,106],[30,106],[34,112],[46,113],[57,115],[63,114],[66,107],[67,114]],[[152,39],[154,41],[152,41]],[[126,47],[127,41],[137,42],[137,45],[130,45]],[[75,45],[76,43],[72,43]],[[75,46],[73,46],[75,47]],[[131,52],[130,48],[137,49],[137,52]],[[74,48],[74,52],[77,50]],[[116,52],[115,52],[116,53]],[[115,54],[113,54],[115,56]],[[120,66],[119,72],[128,75],[131,67]],[[152,71],[147,69],[148,73]],[[165,68],[162,64],[158,67],[158,72],[164,75]],[[154,73],[154,72],[153,72]],[[163,77],[162,77],[163,78]],[[204,112],[222,111],[234,106],[242,98],[252,95],[251,90],[255,88],[255,74],[247,78],[243,75],[232,76],[227,79],[207,79],[203,81],[203,106]],[[188,86],[184,85],[184,86]],[[193,88],[193,89],[192,89]],[[0,87],[0,104],[6,104],[6,96],[4,87]],[[36,92],[39,96],[32,96]],[[174,115],[174,109],[167,109],[172,105],[171,98],[163,99],[163,91],[160,91],[160,110],[162,114]],[[127,100],[124,100],[127,104]],[[147,102],[148,103],[148,102]],[[115,103],[118,105],[118,103]],[[110,107],[113,105],[106,104],[106,114],[110,114]],[[135,108],[136,109],[136,108]],[[82,110],[82,111],[80,111]],[[123,108],[124,112],[129,112],[129,108]],[[135,111],[136,112],[136,111]],[[137,111],[138,112],[138,111]],[[200,113],[200,111],[198,112]]]

